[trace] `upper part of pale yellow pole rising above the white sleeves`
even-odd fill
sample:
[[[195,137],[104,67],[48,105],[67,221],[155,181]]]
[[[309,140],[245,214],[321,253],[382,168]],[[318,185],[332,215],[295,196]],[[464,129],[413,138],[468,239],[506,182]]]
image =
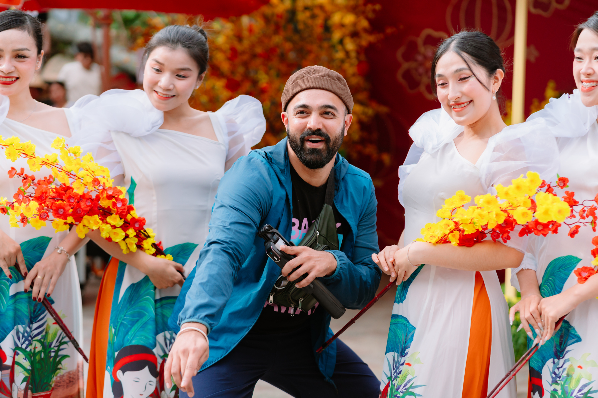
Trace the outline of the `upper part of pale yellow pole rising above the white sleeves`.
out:
[[[515,4],[515,49],[511,124],[523,122],[525,101],[525,65],[527,61],[527,0]]]

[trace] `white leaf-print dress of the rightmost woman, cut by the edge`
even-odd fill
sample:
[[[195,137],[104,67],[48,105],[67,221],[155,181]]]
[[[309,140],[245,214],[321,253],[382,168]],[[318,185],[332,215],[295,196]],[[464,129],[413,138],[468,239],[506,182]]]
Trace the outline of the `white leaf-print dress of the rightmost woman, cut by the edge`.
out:
[[[594,200],[598,193],[598,106],[585,107],[578,90],[572,95],[551,98],[545,108],[529,121],[541,121],[547,135],[557,137],[560,177],[569,178],[559,196],[575,192],[576,200]],[[586,202],[588,203],[588,202]],[[596,203],[594,203],[596,205]],[[578,218],[568,219],[568,223]],[[585,220],[587,221],[587,220]],[[598,233],[581,227],[574,239],[563,224],[557,235],[533,236],[529,254],[520,269],[536,269],[542,296],[569,289],[577,282],[573,273],[579,267],[592,267],[592,238]],[[513,273],[512,284],[518,287]],[[590,397],[598,393],[598,300],[579,304],[565,317],[563,325],[530,359],[532,397]],[[532,343],[528,339],[528,344]]]

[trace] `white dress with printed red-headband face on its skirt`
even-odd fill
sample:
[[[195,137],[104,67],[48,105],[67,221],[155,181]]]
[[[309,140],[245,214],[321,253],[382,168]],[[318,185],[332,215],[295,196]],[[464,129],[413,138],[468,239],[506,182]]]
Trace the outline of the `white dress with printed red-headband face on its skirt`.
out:
[[[208,235],[225,169],[246,155],[266,130],[260,101],[241,95],[208,113],[217,141],[158,128],[163,113],[141,90],[84,97],[75,109],[84,134],[74,137],[75,143],[83,153],[96,155],[111,175],[123,175],[129,203],[188,276]],[[168,320],[180,291],[178,285],[156,289],[135,267],[111,261],[96,304],[88,395],[175,396],[176,386],[166,388],[163,371],[176,337]],[[126,357],[119,356],[121,350]],[[148,350],[155,359],[148,360]],[[148,372],[139,376],[143,369]],[[123,374],[118,376],[118,371]]]

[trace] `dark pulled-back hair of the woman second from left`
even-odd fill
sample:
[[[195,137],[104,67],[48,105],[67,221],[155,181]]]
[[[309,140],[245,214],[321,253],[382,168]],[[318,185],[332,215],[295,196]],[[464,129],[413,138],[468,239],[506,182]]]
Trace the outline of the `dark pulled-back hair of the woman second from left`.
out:
[[[197,63],[199,75],[208,69],[208,61],[210,59],[208,34],[201,26],[170,25],[164,27],[145,46],[145,60],[158,47],[168,47],[172,50],[184,48],[189,56]]]

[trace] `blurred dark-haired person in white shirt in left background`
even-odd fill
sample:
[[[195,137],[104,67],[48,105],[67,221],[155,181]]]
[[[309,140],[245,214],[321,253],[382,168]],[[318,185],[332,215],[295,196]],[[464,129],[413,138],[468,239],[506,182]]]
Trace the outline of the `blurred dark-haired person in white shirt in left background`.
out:
[[[89,42],[77,43],[75,61],[65,64],[58,73],[58,81],[66,87],[66,100],[72,105],[83,95],[100,95],[102,67],[93,62],[93,47]]]

